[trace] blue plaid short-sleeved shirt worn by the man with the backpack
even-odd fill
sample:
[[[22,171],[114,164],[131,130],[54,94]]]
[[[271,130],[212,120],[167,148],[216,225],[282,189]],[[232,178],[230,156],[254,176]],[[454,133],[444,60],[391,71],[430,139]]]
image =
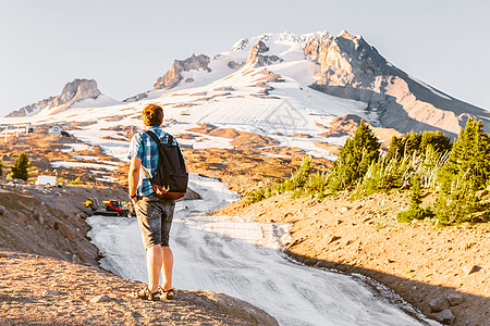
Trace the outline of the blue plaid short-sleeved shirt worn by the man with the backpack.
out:
[[[166,131],[163,131],[162,128],[157,126],[151,126],[148,128],[148,130],[151,130],[157,135],[158,138],[161,139],[161,142],[167,143],[168,138]],[[175,138],[173,139],[173,145],[179,146]],[[131,160],[132,158],[139,158],[142,159],[142,172],[139,173],[139,181],[138,181],[138,188],[136,191],[136,195],[138,197],[142,196],[149,196],[150,193],[155,192],[154,188],[151,187],[151,184],[148,179],[148,176],[145,173],[149,174],[150,177],[155,175],[157,172],[158,166],[158,146],[157,142],[155,142],[154,139],[148,134],[145,133],[137,133],[133,136],[130,143],[130,151],[127,153],[127,158]]]

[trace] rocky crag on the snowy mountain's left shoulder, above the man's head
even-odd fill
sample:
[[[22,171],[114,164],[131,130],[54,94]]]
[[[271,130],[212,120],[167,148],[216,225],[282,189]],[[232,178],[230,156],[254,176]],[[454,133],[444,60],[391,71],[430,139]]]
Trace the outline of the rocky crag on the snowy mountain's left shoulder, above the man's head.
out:
[[[182,77],[182,72],[197,71],[203,68],[210,72],[209,57],[199,54],[192,55],[185,60],[175,60],[172,64],[170,71],[168,71],[162,77],[158,78],[154,85],[152,90],[156,89],[170,89],[179,85],[179,83],[184,78]]]

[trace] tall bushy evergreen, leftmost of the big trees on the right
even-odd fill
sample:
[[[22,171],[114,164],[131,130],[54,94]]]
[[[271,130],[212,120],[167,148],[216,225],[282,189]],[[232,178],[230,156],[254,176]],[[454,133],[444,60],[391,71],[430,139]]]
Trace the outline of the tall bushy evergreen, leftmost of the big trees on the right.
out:
[[[372,162],[379,159],[380,143],[368,125],[360,121],[354,137],[345,141],[333,162],[330,174],[330,188],[346,189],[364,177]]]

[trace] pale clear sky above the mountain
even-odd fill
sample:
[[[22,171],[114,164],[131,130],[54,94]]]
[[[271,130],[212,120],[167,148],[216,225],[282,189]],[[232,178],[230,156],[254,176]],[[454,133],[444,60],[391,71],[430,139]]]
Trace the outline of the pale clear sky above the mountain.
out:
[[[0,0],[0,116],[94,78],[117,100],[152,87],[174,59],[242,37],[346,29],[394,65],[490,110],[490,1]]]

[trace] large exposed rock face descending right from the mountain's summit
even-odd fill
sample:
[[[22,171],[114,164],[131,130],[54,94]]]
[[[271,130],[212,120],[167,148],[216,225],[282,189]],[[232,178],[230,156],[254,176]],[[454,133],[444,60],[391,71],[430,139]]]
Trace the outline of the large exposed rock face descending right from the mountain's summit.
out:
[[[453,136],[468,117],[490,113],[411,78],[391,65],[360,36],[314,36],[304,43],[305,55],[321,68],[310,87],[336,97],[366,102],[383,127],[402,133],[436,130]],[[490,124],[485,123],[490,131]]]

